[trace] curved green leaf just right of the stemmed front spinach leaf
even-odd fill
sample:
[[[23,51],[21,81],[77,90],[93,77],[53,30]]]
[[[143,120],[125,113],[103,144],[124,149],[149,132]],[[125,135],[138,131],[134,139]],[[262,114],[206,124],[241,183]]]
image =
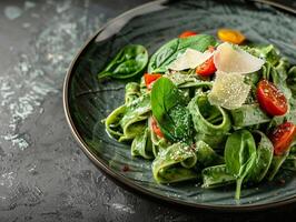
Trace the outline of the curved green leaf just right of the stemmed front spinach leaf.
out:
[[[254,135],[257,143],[257,154],[255,165],[248,175],[248,180],[253,182],[260,182],[266,175],[272,163],[274,145],[263,132],[255,131]]]

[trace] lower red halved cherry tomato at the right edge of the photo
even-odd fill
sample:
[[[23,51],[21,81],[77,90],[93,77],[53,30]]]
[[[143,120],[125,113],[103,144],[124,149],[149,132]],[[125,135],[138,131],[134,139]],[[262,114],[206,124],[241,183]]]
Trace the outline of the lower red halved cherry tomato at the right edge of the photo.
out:
[[[278,125],[275,131],[269,135],[276,155],[283,155],[287,152],[290,143],[295,138],[295,124],[292,122],[285,122]]]

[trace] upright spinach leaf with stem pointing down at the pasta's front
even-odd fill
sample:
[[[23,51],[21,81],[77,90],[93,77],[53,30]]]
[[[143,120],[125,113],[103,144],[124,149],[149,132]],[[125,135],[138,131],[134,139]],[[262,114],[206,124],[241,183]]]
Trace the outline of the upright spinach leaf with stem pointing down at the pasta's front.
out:
[[[227,172],[236,178],[236,199],[240,196],[244,179],[251,172],[256,161],[256,144],[251,133],[238,130],[230,134],[225,145]]]

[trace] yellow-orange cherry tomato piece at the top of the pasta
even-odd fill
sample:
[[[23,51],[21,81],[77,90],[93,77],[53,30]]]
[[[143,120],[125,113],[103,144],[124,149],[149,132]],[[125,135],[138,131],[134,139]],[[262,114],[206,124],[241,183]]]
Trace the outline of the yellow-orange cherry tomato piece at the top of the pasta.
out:
[[[234,44],[241,44],[246,40],[246,37],[240,31],[233,29],[219,29],[217,34],[221,41]]]

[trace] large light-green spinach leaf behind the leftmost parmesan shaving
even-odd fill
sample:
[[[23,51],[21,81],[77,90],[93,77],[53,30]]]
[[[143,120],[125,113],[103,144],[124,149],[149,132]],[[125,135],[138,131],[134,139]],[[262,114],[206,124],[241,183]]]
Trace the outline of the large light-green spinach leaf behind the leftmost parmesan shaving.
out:
[[[148,72],[166,72],[167,67],[180,53],[185,52],[186,49],[190,48],[204,52],[209,46],[216,46],[216,43],[215,38],[207,34],[172,39],[158,49],[151,57],[148,64]]]

